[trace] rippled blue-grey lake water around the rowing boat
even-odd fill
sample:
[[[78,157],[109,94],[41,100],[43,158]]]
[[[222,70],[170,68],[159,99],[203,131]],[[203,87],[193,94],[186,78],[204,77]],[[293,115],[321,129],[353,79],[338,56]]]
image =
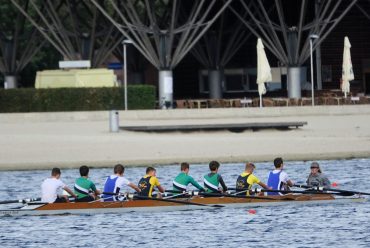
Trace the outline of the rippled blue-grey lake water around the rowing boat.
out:
[[[370,192],[370,159],[319,161],[325,174],[341,189]],[[264,182],[271,163],[257,163],[255,174]],[[309,162],[286,162],[294,182],[304,183]],[[220,173],[234,187],[243,164],[223,164]],[[112,168],[92,169],[90,177],[102,188]],[[157,166],[162,185],[170,188],[178,165]],[[201,181],[207,165],[191,165],[190,175]],[[41,182],[50,171],[0,172],[0,200],[40,196]],[[145,168],[127,168],[134,183]],[[62,170],[73,186],[78,170]],[[6,205],[0,205],[1,208]],[[0,217],[0,247],[370,247],[370,203],[285,205],[221,208],[161,213],[70,216]]]

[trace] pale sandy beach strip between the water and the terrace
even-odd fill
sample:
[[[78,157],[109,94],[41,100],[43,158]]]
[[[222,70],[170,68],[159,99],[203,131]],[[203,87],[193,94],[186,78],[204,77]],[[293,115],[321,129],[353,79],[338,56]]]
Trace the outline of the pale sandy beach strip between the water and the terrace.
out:
[[[123,125],[306,121],[290,130],[109,132],[109,112],[0,114],[0,169],[370,157],[370,106],[120,111]]]

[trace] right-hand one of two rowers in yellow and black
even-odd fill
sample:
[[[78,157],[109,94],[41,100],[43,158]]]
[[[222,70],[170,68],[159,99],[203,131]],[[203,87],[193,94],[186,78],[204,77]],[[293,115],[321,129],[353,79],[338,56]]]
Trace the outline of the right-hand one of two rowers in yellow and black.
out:
[[[272,189],[261,182],[261,180],[259,180],[259,178],[253,174],[255,168],[256,166],[253,163],[248,162],[245,164],[244,172],[240,174],[236,180],[236,192],[244,191],[246,192],[246,195],[250,195],[250,189],[252,188],[253,184],[258,184],[264,189]]]

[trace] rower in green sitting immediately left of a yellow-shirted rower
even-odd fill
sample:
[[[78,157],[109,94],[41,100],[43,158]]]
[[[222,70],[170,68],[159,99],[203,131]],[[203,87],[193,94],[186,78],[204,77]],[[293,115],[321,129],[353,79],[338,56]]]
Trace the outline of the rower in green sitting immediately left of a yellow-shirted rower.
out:
[[[206,189],[207,193],[220,193],[226,192],[227,187],[226,184],[220,174],[218,174],[218,168],[220,167],[220,163],[217,161],[211,161],[209,163],[209,170],[210,173],[204,175],[204,188]],[[222,188],[219,188],[218,185],[221,184]]]

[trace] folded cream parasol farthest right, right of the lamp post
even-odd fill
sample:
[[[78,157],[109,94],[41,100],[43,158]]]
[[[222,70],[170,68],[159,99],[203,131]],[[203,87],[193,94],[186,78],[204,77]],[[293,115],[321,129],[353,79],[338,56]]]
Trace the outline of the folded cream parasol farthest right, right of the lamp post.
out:
[[[349,93],[349,81],[355,79],[351,61],[351,43],[348,37],[344,37],[344,50],[343,50],[343,66],[342,66],[342,91],[344,96],[347,97]]]

